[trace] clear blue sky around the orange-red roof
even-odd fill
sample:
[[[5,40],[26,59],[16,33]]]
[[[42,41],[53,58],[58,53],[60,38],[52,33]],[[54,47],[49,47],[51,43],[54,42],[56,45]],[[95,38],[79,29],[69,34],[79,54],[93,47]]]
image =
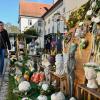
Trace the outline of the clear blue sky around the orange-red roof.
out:
[[[20,0],[0,0],[0,21],[18,25],[18,9]],[[53,0],[27,0],[52,3]]]

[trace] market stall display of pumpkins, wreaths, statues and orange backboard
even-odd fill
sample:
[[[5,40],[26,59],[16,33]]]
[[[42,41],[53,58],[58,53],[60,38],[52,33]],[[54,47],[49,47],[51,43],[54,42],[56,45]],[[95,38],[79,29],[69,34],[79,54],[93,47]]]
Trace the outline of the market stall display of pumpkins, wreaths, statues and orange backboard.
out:
[[[72,12],[65,22],[69,29],[66,33],[44,37],[45,50],[37,68],[35,55],[26,54],[14,61],[13,92],[19,100],[81,100],[82,96],[85,100],[100,99],[99,4],[99,0],[89,1]]]

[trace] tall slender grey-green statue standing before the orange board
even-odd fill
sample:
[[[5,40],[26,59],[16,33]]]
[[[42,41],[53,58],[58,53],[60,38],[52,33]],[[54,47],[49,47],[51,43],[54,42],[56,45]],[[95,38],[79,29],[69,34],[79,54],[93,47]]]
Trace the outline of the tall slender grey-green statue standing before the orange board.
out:
[[[73,96],[74,90],[74,79],[75,79],[75,52],[77,50],[77,44],[72,43],[69,48],[68,61],[67,61],[67,71],[68,71],[68,80],[69,80],[69,96]]]

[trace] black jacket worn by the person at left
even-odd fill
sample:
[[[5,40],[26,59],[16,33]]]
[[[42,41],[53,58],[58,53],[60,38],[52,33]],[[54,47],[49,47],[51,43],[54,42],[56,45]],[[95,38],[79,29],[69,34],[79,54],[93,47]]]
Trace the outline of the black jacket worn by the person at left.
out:
[[[0,32],[1,33],[1,38],[3,40],[3,44],[1,48],[3,49],[11,49],[11,44],[10,44],[10,40],[9,40],[9,36],[8,36],[8,32],[4,29],[3,31]]]

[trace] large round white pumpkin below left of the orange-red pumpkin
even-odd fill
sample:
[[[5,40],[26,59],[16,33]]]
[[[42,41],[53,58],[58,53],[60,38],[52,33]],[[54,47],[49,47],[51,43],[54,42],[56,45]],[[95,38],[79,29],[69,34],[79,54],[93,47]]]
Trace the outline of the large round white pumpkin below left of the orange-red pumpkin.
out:
[[[27,92],[30,89],[31,85],[28,81],[22,81],[19,86],[18,89],[20,92]]]

